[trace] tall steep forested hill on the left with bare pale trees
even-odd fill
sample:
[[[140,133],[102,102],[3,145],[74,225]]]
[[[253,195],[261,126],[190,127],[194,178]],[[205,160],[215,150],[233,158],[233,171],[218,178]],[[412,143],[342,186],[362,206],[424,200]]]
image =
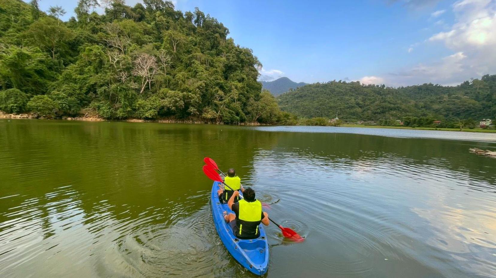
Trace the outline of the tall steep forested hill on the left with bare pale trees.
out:
[[[224,123],[288,116],[261,93],[252,51],[217,19],[170,1],[105,2],[98,14],[97,0],[79,0],[62,22],[60,7],[0,1],[0,110]]]

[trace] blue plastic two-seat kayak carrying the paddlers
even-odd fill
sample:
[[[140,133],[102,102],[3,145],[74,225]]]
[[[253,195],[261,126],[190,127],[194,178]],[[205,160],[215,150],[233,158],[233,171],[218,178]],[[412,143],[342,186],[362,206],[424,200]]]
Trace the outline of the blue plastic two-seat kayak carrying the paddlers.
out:
[[[236,261],[256,275],[264,275],[269,268],[269,245],[262,224],[258,228],[260,237],[255,239],[237,238],[231,226],[224,220],[223,211],[227,211],[228,213],[234,212],[229,209],[227,204],[221,204],[219,202],[219,196],[217,196],[218,184],[219,182],[214,182],[210,196],[212,216],[217,234],[219,234],[227,251],[231,253]],[[242,195],[241,192],[240,195]]]

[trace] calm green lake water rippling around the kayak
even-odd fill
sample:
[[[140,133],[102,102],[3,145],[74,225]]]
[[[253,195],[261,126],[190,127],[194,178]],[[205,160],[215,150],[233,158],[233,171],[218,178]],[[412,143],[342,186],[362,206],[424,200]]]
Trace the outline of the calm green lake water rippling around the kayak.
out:
[[[252,277],[209,210],[210,156],[306,236],[267,277],[496,277],[495,134],[0,120],[0,277]]]

